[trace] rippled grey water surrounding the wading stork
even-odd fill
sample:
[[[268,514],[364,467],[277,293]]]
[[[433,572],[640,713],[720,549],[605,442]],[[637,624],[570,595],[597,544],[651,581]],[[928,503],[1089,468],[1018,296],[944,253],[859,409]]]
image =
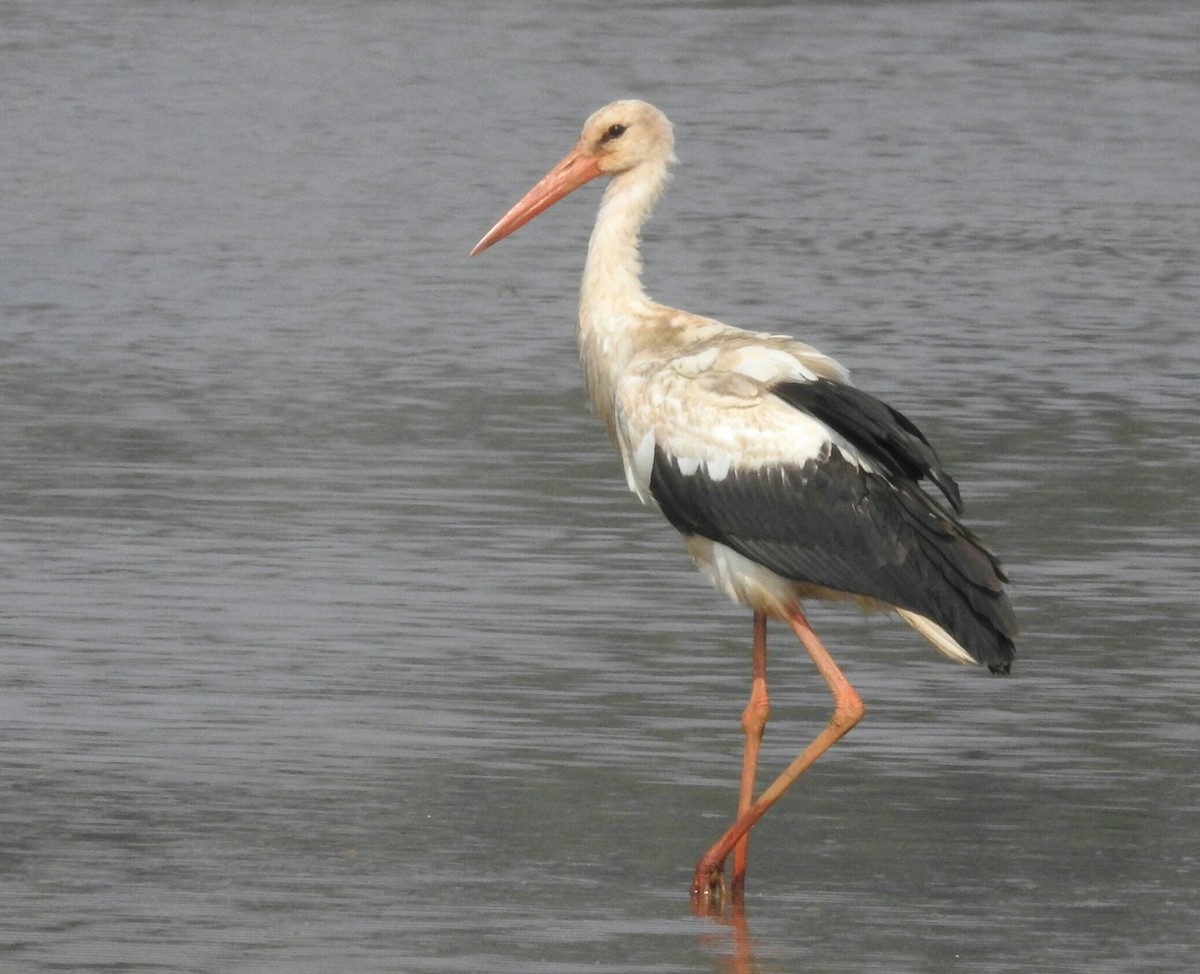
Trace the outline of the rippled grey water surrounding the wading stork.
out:
[[[0,2],[0,967],[1146,972],[1200,942],[1200,10]],[[656,296],[918,420],[1013,678],[812,618],[868,719],[689,913],[749,619],[625,492],[610,98]],[[764,764],[828,699],[776,632]]]

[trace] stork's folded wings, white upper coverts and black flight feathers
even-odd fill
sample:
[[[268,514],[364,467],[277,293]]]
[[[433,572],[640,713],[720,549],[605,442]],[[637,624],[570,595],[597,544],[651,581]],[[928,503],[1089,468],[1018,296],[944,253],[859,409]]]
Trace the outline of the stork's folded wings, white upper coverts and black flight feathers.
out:
[[[626,471],[679,531],[784,578],[894,606],[935,644],[944,630],[972,659],[1008,669],[1016,624],[1006,576],[922,489],[928,480],[961,509],[914,423],[815,375],[763,383],[710,367],[643,381],[626,390],[642,404],[623,423]]]

